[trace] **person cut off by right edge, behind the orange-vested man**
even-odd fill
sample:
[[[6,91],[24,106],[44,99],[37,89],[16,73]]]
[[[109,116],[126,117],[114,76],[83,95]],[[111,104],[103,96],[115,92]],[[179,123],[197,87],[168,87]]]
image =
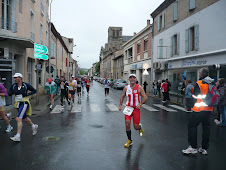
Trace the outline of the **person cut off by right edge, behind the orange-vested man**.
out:
[[[218,126],[226,127],[226,83],[225,79],[221,78],[216,84],[220,91],[219,111],[221,114],[221,122]]]

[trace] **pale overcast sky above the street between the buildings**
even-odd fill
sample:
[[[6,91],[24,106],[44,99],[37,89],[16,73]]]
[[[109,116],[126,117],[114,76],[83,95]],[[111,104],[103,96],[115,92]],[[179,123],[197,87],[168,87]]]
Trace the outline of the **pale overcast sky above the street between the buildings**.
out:
[[[80,67],[90,68],[107,43],[109,26],[123,27],[123,35],[133,35],[146,26],[148,19],[152,23],[150,14],[163,1],[53,0],[51,20],[62,36],[74,38],[73,58]]]

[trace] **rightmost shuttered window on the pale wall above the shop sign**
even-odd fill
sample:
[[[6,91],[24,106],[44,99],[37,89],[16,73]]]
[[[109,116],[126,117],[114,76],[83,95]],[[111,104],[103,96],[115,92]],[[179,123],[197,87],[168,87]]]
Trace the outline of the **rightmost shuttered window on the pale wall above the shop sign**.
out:
[[[185,52],[199,50],[199,25],[185,30]]]

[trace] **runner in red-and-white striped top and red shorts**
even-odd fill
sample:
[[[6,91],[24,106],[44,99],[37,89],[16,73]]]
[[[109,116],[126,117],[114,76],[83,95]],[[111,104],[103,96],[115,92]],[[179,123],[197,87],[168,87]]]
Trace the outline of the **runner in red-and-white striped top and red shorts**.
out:
[[[131,118],[133,117],[133,127],[136,130],[139,130],[140,136],[143,136],[144,130],[142,124],[140,123],[140,108],[142,104],[146,102],[147,95],[144,92],[144,89],[139,84],[136,84],[137,77],[135,74],[130,74],[129,82],[130,85],[124,87],[122,96],[120,98],[119,111],[122,110],[122,103],[125,97],[127,97],[126,108],[123,113],[125,114],[125,125],[126,125],[126,134],[128,141],[125,143],[124,147],[130,147],[132,143],[131,139]],[[143,100],[140,101],[140,96],[143,97]]]

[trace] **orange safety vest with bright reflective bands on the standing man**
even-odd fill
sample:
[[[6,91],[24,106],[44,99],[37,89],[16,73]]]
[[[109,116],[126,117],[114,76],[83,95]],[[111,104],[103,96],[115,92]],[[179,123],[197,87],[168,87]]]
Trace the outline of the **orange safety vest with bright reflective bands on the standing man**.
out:
[[[192,108],[195,112],[201,112],[201,111],[213,111],[213,107],[208,106],[203,99],[206,98],[206,94],[209,90],[208,84],[203,84],[202,80],[197,81],[197,84],[199,85],[201,93],[198,96],[192,95],[193,98],[197,99],[194,107]]]

